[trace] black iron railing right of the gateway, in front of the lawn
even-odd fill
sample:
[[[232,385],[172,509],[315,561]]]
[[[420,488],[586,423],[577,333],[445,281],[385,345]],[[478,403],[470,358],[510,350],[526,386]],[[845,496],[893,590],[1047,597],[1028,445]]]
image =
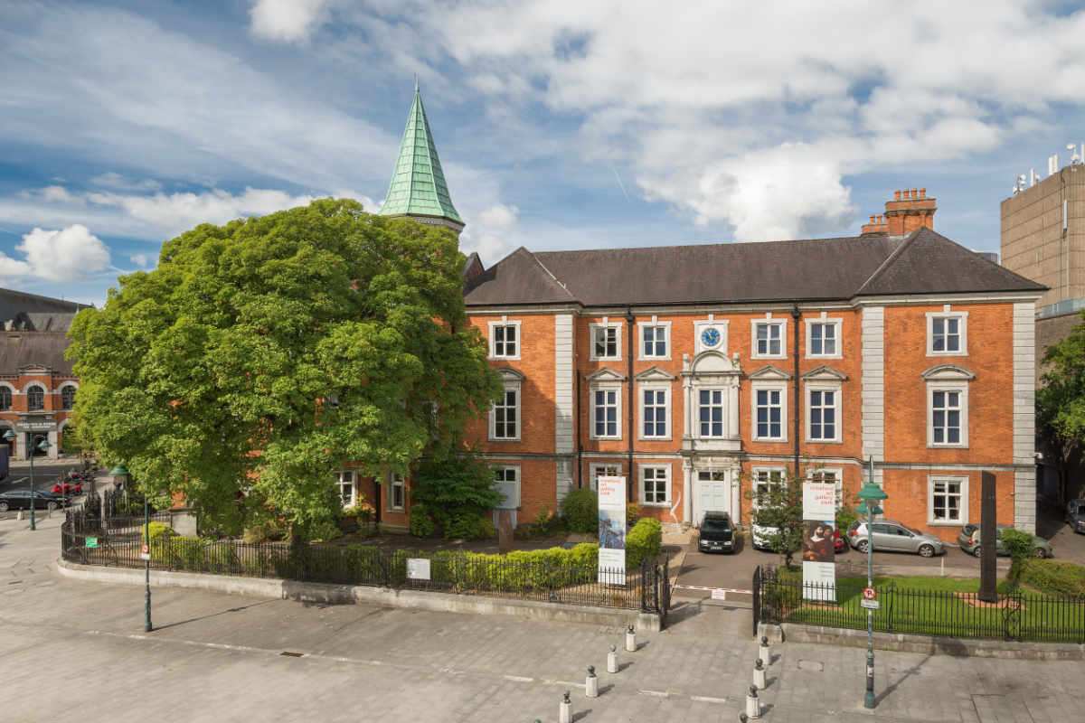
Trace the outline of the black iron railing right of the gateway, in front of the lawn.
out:
[[[777,570],[754,573],[754,617],[764,622],[794,622],[866,630],[860,604],[865,580],[835,584],[803,583]],[[912,590],[888,582],[877,586],[878,632],[944,637],[994,637],[1008,641],[1085,643],[1085,598],[1017,590],[994,603],[976,593]]]

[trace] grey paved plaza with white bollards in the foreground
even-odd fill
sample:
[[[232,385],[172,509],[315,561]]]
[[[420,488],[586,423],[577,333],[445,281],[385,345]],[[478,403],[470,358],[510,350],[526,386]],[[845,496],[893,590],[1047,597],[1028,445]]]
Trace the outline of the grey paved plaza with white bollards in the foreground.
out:
[[[0,721],[737,721],[751,682],[750,611],[680,601],[608,675],[620,628],[318,606],[191,590],[78,582],[55,570],[60,520],[0,521]],[[301,657],[283,653],[301,654]],[[1081,662],[879,653],[876,711],[865,651],[774,647],[767,721],[1072,721]],[[584,695],[587,666],[599,698]]]

